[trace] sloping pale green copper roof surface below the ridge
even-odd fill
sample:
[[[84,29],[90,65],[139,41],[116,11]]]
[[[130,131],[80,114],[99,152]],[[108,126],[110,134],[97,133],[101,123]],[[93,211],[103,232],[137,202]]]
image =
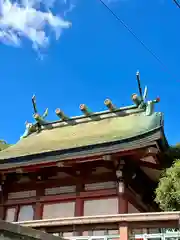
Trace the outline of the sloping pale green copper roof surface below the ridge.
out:
[[[140,111],[127,116],[118,116],[118,112],[105,115],[100,115],[99,120],[83,118],[84,122],[75,125],[54,123],[53,128],[33,133],[0,152],[0,159],[141,137],[162,124],[161,113],[146,116]]]

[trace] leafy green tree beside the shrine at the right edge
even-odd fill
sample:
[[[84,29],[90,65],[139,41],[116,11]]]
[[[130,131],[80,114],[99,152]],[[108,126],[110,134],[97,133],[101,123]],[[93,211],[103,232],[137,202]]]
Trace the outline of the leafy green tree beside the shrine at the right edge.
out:
[[[180,145],[171,147],[167,154],[174,162],[162,173],[155,201],[163,211],[180,211]]]

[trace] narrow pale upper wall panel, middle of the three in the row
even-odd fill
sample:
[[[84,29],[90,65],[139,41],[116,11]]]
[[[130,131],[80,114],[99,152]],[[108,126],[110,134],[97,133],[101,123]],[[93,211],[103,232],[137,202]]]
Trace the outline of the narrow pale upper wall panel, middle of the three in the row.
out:
[[[76,186],[62,186],[55,188],[46,188],[45,195],[57,195],[57,194],[66,194],[66,193],[75,193]]]

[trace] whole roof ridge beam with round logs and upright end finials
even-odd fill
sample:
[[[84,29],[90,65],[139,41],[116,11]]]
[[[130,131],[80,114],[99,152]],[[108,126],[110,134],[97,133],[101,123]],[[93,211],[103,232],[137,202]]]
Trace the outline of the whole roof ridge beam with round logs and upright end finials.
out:
[[[45,120],[48,115],[48,108],[44,111],[42,115],[38,113],[36,97],[35,95],[33,95],[32,104],[34,109],[34,123],[29,123],[27,121],[25,122],[26,129],[21,138],[26,138],[32,133],[40,132],[44,129],[51,129],[54,127],[68,125],[71,126],[79,123],[103,120],[105,118],[123,117],[129,114],[137,114],[140,112],[144,112],[146,116],[150,116],[154,112],[154,104],[158,103],[160,99],[159,97],[157,97],[155,100],[146,101],[148,89],[147,87],[145,87],[144,94],[142,95],[139,72],[137,73],[137,81],[140,96],[138,96],[136,93],[132,94],[131,99],[134,102],[134,105],[117,108],[110,99],[106,99],[104,101],[104,104],[108,108],[108,110],[101,112],[92,112],[85,104],[80,104],[80,110],[82,111],[83,115],[75,117],[69,117],[65,115],[61,109],[57,108],[55,110],[55,113],[60,118],[60,120],[51,122]]]

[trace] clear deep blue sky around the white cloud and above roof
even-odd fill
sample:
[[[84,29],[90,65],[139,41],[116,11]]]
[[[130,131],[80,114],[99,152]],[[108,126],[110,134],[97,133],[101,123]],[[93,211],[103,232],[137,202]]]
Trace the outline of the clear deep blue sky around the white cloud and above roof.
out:
[[[72,22],[58,41],[52,39],[40,60],[30,44],[14,48],[1,43],[0,138],[15,143],[32,121],[31,97],[39,111],[56,108],[79,115],[79,104],[93,111],[105,109],[108,97],[117,106],[131,103],[140,70],[149,98],[160,96],[157,110],[165,114],[165,133],[170,144],[180,141],[180,9],[168,0],[119,0],[111,9],[164,62],[164,68],[104,8],[99,0],[76,0],[66,15]],[[56,9],[57,11],[57,9]]]

